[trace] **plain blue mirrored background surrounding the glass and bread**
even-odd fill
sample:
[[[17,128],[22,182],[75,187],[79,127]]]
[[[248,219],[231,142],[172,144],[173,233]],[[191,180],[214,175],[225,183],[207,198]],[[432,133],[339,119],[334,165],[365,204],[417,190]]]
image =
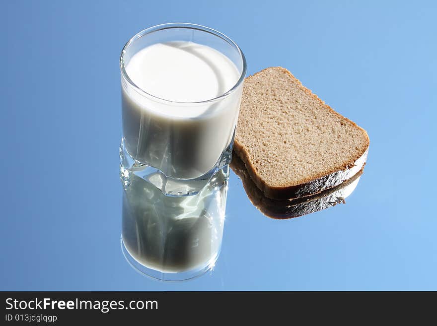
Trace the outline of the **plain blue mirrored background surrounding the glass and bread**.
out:
[[[435,1],[1,1],[1,290],[437,290]],[[433,3],[434,2],[434,3]],[[370,136],[346,205],[276,221],[230,178],[212,273],[120,250],[119,54],[185,21],[291,70]]]

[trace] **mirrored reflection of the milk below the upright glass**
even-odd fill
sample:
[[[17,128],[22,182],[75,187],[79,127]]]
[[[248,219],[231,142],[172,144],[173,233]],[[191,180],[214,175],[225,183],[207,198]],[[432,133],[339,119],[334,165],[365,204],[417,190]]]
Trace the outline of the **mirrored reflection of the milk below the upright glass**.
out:
[[[165,196],[133,175],[123,195],[123,243],[142,265],[165,273],[203,269],[218,257],[228,168],[195,196]]]

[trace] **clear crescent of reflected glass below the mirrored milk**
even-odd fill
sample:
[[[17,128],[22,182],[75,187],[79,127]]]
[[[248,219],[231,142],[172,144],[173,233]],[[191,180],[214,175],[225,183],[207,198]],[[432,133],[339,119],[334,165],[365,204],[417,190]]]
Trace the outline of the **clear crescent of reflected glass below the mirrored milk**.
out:
[[[153,268],[148,268],[142,263],[138,262],[128,251],[125,244],[123,243],[123,237],[120,237],[120,245],[121,250],[123,253],[123,256],[125,257],[126,261],[129,262],[129,264],[140,274],[145,275],[147,277],[150,277],[155,280],[159,281],[169,281],[169,282],[175,282],[175,281],[184,281],[189,280],[195,277],[199,277],[208,271],[213,271],[214,266],[216,265],[218,256],[220,254],[220,251],[213,256],[210,261],[205,266],[201,266],[196,269],[191,269],[183,272],[177,272],[177,273],[166,273],[162,272]]]

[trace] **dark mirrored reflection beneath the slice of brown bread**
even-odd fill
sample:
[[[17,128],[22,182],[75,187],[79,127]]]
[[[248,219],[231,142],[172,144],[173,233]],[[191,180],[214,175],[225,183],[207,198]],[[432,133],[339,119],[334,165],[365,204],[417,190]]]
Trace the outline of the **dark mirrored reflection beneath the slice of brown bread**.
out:
[[[361,169],[355,176],[342,184],[326,189],[312,196],[294,199],[271,199],[255,185],[238,155],[232,156],[230,167],[241,179],[247,197],[264,215],[274,219],[289,219],[326,209],[337,204],[346,203],[345,198],[352,194],[363,173]]]

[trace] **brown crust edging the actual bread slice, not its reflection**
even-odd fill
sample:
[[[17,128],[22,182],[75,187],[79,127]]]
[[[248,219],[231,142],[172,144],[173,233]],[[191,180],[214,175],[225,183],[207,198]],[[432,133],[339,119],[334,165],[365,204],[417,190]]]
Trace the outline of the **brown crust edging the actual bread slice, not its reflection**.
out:
[[[358,126],[353,121],[349,120],[346,117],[343,117],[338,112],[334,111],[329,105],[325,104],[324,101],[322,101],[316,94],[312,93],[311,90],[306,88],[302,85],[302,83],[294,77],[289,70],[283,67],[269,67],[266,69],[263,69],[254,75],[248,76],[246,80],[249,80],[253,76],[261,73],[264,70],[267,69],[277,69],[282,72],[287,73],[291,78],[297,81],[299,86],[312,98],[317,100],[323,107],[325,107],[327,110],[330,110],[333,114],[338,116],[340,119],[347,121],[351,123],[354,127],[361,130],[365,137],[365,144],[363,148],[360,149],[360,152],[356,155],[356,157],[353,157],[350,161],[344,162],[344,166],[340,170],[329,170],[328,173],[319,175],[316,175],[315,178],[308,178],[302,180],[301,184],[299,185],[290,185],[290,186],[272,186],[267,184],[263,179],[261,179],[258,174],[256,173],[256,169],[253,165],[253,163],[249,159],[249,153],[247,152],[246,148],[244,148],[239,142],[238,138],[235,137],[233,151],[238,155],[238,157],[243,161],[250,177],[256,184],[256,186],[265,194],[265,196],[273,198],[273,199],[287,199],[287,198],[297,198],[302,196],[309,196],[313,194],[320,193],[321,191],[324,191],[326,189],[336,187],[346,180],[353,177],[355,174],[357,174],[358,171],[360,171],[367,159],[367,153],[368,153],[368,147],[369,147],[369,137],[367,135],[367,132]]]

